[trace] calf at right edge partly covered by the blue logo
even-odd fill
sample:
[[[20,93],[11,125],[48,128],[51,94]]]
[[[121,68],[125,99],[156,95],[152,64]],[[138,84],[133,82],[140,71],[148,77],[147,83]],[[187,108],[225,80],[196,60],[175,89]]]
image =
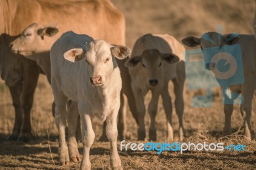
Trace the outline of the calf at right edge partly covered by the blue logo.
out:
[[[241,93],[244,100],[240,105],[240,111],[244,118],[244,131],[248,139],[252,139],[251,112],[252,98],[256,87],[256,42],[253,35],[220,35],[215,32],[205,33],[202,38],[189,36],[182,40],[188,47],[199,45],[204,54],[205,68],[214,73],[216,80],[223,89],[225,125],[224,135],[231,134],[231,115],[234,100],[237,93]],[[235,48],[227,48],[237,45]],[[231,46],[230,46],[231,47]],[[240,52],[241,62],[232,57],[232,53]],[[231,50],[230,50],[231,49]],[[214,54],[214,57],[213,55]],[[220,66],[221,60],[225,61]],[[239,64],[241,66],[239,66]],[[227,71],[227,65],[230,67]],[[243,69],[242,69],[243,68]],[[242,76],[241,76],[242,75]],[[241,82],[234,84],[233,82]],[[229,95],[231,94],[231,95]]]

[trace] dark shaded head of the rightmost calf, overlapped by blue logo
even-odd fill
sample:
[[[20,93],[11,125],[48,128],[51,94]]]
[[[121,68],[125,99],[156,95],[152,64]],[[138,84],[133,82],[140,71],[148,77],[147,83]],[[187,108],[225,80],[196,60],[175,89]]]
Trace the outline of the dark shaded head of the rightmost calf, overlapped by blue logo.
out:
[[[204,54],[205,68],[207,70],[215,70],[217,62],[220,59],[228,60],[228,53],[225,52],[225,45],[234,45],[239,41],[239,37],[236,35],[220,35],[219,33],[209,32],[204,33],[202,38],[196,38],[194,36],[188,36],[182,40],[184,45],[188,47],[201,47],[202,53]],[[219,52],[218,61],[212,59],[212,54]],[[226,65],[226,64],[225,64]]]

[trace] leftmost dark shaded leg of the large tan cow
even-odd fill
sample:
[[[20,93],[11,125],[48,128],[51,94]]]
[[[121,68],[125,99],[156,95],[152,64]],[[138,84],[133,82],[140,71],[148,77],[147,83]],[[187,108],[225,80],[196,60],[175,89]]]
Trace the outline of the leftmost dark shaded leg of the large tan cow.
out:
[[[17,141],[20,134],[20,128],[22,125],[22,108],[20,105],[20,95],[22,90],[22,83],[17,84],[17,86],[8,86],[10,93],[12,95],[13,107],[15,109],[15,121],[12,130],[12,135],[8,137],[7,140]]]

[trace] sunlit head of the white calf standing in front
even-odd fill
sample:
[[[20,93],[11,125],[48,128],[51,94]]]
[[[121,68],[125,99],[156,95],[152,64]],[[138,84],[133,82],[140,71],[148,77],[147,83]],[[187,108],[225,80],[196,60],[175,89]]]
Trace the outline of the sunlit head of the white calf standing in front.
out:
[[[103,40],[87,43],[84,49],[70,49],[64,54],[68,61],[77,62],[84,58],[90,73],[90,82],[102,86],[117,66],[115,58],[124,59],[130,54],[130,49],[121,45],[110,45]]]

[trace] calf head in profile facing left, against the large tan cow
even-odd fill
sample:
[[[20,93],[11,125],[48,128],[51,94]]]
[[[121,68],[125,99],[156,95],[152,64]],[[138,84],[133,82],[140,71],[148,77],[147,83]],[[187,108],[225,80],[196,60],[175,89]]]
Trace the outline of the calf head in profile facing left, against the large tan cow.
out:
[[[44,44],[45,36],[54,36],[58,33],[56,26],[43,27],[33,23],[22,31],[21,35],[10,43],[10,48],[14,53],[22,56],[30,56],[35,52],[42,52],[46,47]]]

